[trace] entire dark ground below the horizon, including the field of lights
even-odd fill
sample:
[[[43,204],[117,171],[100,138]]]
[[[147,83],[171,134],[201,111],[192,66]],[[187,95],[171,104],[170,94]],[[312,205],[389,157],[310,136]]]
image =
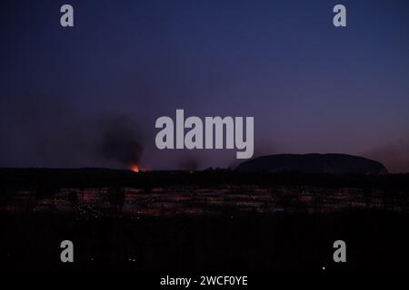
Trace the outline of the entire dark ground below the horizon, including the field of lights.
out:
[[[67,172],[0,170],[1,271],[409,270],[407,175]]]

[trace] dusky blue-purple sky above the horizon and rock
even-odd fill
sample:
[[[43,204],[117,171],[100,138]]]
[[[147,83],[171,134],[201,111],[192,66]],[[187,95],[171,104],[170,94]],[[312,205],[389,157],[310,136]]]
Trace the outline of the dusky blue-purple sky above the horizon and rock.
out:
[[[333,25],[336,4],[347,27]],[[408,8],[2,1],[0,167],[125,168],[129,144],[147,169],[234,166],[236,150],[155,149],[155,120],[185,109],[254,116],[254,156],[342,152],[409,171]]]

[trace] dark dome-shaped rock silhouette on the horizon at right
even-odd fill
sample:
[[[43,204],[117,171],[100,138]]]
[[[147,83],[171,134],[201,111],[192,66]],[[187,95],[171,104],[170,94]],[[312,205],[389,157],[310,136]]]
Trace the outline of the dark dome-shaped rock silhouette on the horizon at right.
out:
[[[241,172],[298,171],[329,174],[385,174],[388,170],[380,162],[347,154],[276,154],[262,156],[241,163]]]

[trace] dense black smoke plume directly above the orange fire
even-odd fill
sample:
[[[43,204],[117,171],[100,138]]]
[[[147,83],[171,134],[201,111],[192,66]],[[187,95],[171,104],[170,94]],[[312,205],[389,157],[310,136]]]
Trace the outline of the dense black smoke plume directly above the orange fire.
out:
[[[105,160],[114,160],[127,167],[139,164],[144,151],[135,124],[126,117],[116,117],[106,123],[99,153]]]

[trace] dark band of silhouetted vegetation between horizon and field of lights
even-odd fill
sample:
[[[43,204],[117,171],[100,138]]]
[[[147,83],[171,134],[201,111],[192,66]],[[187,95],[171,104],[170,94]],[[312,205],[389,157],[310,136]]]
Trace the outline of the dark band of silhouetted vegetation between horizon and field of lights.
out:
[[[149,192],[154,187],[218,188],[226,184],[265,188],[278,185],[357,188],[365,189],[367,193],[371,189],[387,189],[392,195],[396,190],[409,189],[409,174],[247,173],[227,169],[207,169],[193,173],[182,170],[135,173],[115,169],[0,169],[0,189],[36,189],[39,195],[53,194],[61,188],[132,187]]]

